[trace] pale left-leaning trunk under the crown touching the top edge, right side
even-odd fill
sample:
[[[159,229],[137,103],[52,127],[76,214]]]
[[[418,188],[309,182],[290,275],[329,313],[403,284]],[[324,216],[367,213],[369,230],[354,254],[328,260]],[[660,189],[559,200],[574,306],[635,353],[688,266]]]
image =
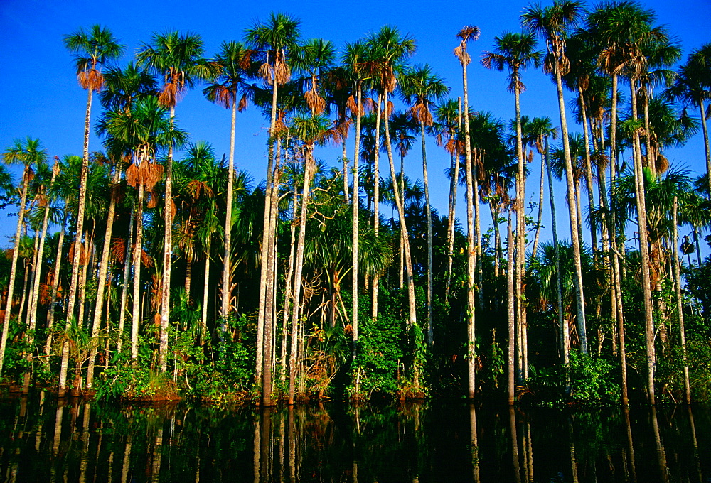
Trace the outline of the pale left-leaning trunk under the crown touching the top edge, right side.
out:
[[[563,99],[563,85],[560,75],[560,64],[555,62],[555,85],[558,94],[558,110],[560,111],[560,131],[563,138],[563,153],[565,156],[565,179],[567,184],[567,200],[570,213],[570,241],[573,246],[573,263],[575,276],[575,302],[577,313],[577,327],[580,336],[580,349],[587,354],[587,332],[585,328],[585,298],[582,287],[582,258],[580,254],[580,237],[578,232],[578,217],[575,210],[575,186],[573,178],[572,160],[570,157],[570,143],[568,139],[568,125],[565,119],[565,100]]]

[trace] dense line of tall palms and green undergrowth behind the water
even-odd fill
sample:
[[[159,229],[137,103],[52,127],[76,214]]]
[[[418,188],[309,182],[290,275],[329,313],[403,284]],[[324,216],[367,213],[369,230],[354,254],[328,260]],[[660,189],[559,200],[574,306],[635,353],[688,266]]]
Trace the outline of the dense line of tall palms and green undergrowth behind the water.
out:
[[[387,26],[338,50],[272,13],[211,58],[166,32],[125,65],[105,27],[65,36],[87,92],[82,156],[27,137],[4,149],[21,179],[0,171],[18,214],[0,261],[5,384],[266,406],[707,401],[711,179],[664,150],[701,130],[709,170],[711,44],[683,59],[634,1],[530,4],[520,21],[479,66],[479,28],[451,33],[461,87],[408,63],[415,39]],[[508,72],[514,119],[477,111],[467,74],[483,67]],[[520,112],[538,68],[559,119]],[[229,153],[191,143],[187,89],[230,109]],[[269,119],[264,146],[235,146],[244,109]],[[326,144],[341,156],[317,161]],[[235,149],[267,152],[263,183],[235,171]],[[446,213],[429,199],[434,149],[451,160]]]

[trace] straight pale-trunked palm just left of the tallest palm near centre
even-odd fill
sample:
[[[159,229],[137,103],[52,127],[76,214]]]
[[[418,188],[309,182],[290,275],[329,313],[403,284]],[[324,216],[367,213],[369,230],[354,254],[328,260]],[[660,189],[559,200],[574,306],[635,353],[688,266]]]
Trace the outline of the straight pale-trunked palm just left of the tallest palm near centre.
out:
[[[252,51],[237,42],[223,42],[220,53],[215,55],[215,62],[220,64],[220,76],[215,82],[203,89],[203,94],[210,102],[215,102],[225,109],[231,109],[230,124],[230,159],[228,161],[227,206],[225,216],[225,251],[223,254],[222,290],[223,298],[220,305],[220,315],[227,318],[230,315],[230,298],[232,281],[232,191],[235,178],[235,125],[237,111],[242,112],[247,107],[250,97],[247,79],[253,74]],[[237,95],[242,94],[237,101]]]

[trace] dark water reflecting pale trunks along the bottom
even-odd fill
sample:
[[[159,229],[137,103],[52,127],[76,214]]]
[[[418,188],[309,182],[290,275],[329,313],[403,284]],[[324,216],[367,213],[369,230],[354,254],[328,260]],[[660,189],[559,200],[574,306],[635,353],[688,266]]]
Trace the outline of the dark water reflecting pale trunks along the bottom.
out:
[[[711,411],[0,399],[4,482],[711,482]]]

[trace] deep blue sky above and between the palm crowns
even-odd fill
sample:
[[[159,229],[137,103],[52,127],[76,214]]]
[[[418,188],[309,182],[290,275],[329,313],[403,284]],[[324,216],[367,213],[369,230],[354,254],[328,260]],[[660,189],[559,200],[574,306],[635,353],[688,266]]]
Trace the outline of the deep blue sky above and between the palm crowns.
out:
[[[425,4],[415,0],[403,6],[393,3],[361,1],[351,9],[322,0],[309,2],[202,2],[177,0],[126,0],[122,2],[64,2],[41,0],[2,0],[0,2],[0,148],[11,145],[13,139],[33,136],[41,139],[50,156],[82,153],[82,131],[85,114],[85,91],[78,87],[70,54],[62,37],[80,27],[101,23],[127,46],[129,60],[141,42],[149,41],[154,31],[177,29],[193,31],[203,36],[205,55],[216,53],[224,40],[241,40],[244,29],[255,21],[264,20],[270,11],[282,11],[301,19],[304,38],[323,37],[338,48],[354,42],[380,26],[391,25],[410,33],[417,40],[417,53],[412,63],[429,63],[452,88],[451,95],[461,95],[461,67],[451,50],[457,45],[455,34],[465,24],[481,28],[481,38],[470,43],[472,63],[469,66],[470,104],[480,111],[491,111],[504,119],[514,115],[513,95],[506,91],[506,73],[489,71],[478,64],[479,54],[493,48],[493,37],[504,31],[519,29],[518,16],[525,1],[484,1]],[[707,26],[711,21],[705,0],[674,2],[648,1],[656,9],[658,21],[666,23],[684,48],[684,59],[690,50],[710,40]],[[528,90],[521,97],[522,113],[528,116],[550,116],[558,121],[555,87],[542,72],[525,72],[523,80]],[[629,89],[621,85],[624,92]],[[566,94],[567,99],[572,94]],[[96,104],[98,104],[96,102]],[[99,114],[95,104],[94,119]],[[397,101],[396,101],[397,105]],[[401,107],[401,106],[400,106]],[[693,111],[690,111],[693,112]],[[695,114],[695,113],[694,113]],[[201,92],[188,92],[176,108],[178,121],[191,133],[192,141],[205,139],[213,143],[218,156],[228,152],[230,116],[226,109],[205,101]],[[572,113],[568,113],[569,118]],[[268,121],[250,108],[238,114],[237,169],[247,170],[261,180],[266,171],[265,139]],[[574,128],[573,128],[574,129]],[[349,156],[352,156],[351,134]],[[449,155],[438,148],[434,139],[427,139],[427,153],[432,204],[441,213],[447,212],[449,183],[443,170],[449,166]],[[100,148],[100,140],[92,136],[90,149]],[[406,159],[406,171],[412,178],[422,178],[419,143]],[[700,134],[681,149],[670,148],[666,155],[673,165],[688,166],[694,173],[705,171],[704,151]],[[337,165],[340,148],[317,148],[316,156]],[[387,173],[387,158],[381,158],[381,173]],[[537,162],[530,165],[527,202],[538,200]],[[19,171],[12,168],[18,178]],[[387,174],[386,174],[387,175]],[[464,190],[460,190],[459,217],[464,216]],[[558,212],[561,219],[559,236],[570,238],[565,223],[564,185],[557,185]],[[547,198],[546,198],[547,207]],[[387,213],[387,211],[385,211]],[[486,211],[488,212],[488,210]],[[545,210],[547,227],[543,238],[550,237],[550,218]],[[488,220],[488,217],[483,217]],[[547,221],[546,221],[547,220]],[[488,221],[484,221],[488,224]],[[13,236],[16,218],[0,217],[0,246],[6,246]],[[486,231],[486,228],[484,228]],[[567,234],[567,236],[566,236]]]

